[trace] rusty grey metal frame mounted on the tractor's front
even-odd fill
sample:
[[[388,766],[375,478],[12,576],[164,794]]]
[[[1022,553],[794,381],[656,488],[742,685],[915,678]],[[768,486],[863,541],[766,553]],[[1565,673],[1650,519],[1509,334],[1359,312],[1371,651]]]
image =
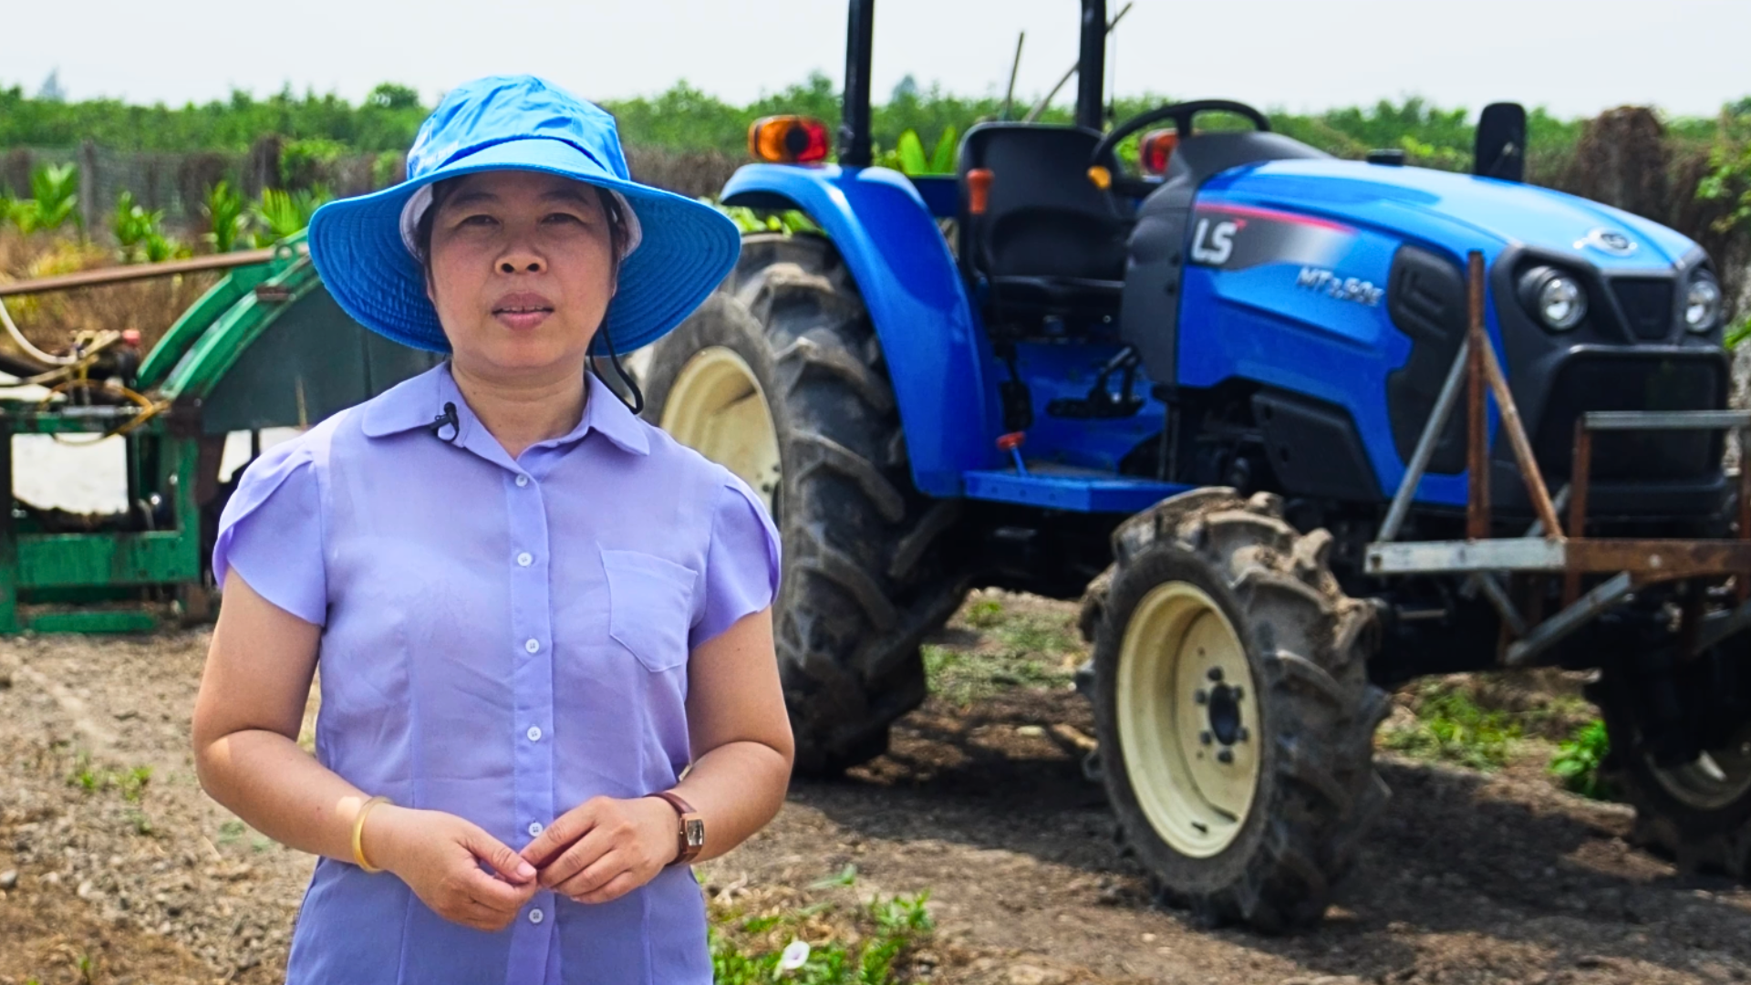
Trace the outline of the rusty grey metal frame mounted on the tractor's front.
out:
[[[1704,617],[1700,592],[1684,603],[1679,634],[1686,654],[1704,650],[1732,633],[1751,626],[1751,468],[1739,466],[1739,536],[1735,540],[1637,540],[1588,538],[1586,500],[1592,471],[1593,435],[1597,431],[1737,431],[1740,449],[1751,449],[1751,410],[1630,410],[1586,412],[1576,419],[1571,484],[1555,498],[1532,456],[1525,424],[1515,407],[1483,330],[1483,254],[1467,258],[1469,324],[1464,344],[1453,358],[1441,393],[1418,436],[1403,482],[1387,510],[1376,540],[1368,545],[1364,571],[1376,577],[1462,575],[1502,619],[1502,666],[1534,666],[1557,643],[1600,613],[1628,599],[1635,589],[1686,578],[1733,577],[1739,606]],[[1467,394],[1466,470],[1466,540],[1397,542],[1410,515],[1417,485],[1429,466],[1441,431],[1453,415],[1460,389]],[[1490,536],[1488,431],[1487,400],[1495,398],[1501,429],[1515,454],[1537,521],[1523,536]],[[1558,510],[1567,505],[1567,528]],[[1522,575],[1522,603],[1516,605],[1502,575]],[[1581,594],[1585,575],[1611,575]],[[1562,578],[1562,605],[1550,617],[1537,610],[1544,577]]]

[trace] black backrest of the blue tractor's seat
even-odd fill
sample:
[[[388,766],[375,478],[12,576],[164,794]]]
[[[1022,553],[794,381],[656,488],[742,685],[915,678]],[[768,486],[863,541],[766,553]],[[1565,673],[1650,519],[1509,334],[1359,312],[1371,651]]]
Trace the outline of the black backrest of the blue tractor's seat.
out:
[[[1080,126],[982,123],[961,140],[960,254],[986,277],[1122,280],[1129,223],[1087,177],[1101,135]],[[1112,167],[1108,163],[1108,167]],[[991,172],[984,216],[967,172]]]

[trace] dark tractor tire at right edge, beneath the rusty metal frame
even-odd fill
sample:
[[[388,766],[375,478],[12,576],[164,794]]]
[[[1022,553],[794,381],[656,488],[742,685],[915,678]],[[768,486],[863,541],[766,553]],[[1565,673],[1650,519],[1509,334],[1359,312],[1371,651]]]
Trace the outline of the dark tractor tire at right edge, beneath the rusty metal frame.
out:
[[[1737,640],[1742,648],[1744,636]],[[1746,654],[1712,654],[1739,664]],[[1732,670],[1737,671],[1737,666]],[[1723,682],[1751,687],[1742,671]],[[1684,766],[1656,766],[1635,722],[1637,682],[1620,668],[1607,668],[1588,687],[1606,720],[1611,752],[1600,776],[1620,799],[1635,808],[1630,843],[1672,857],[1679,869],[1716,871],[1751,882],[1751,720],[1719,748]],[[1691,691],[1691,694],[1707,694]],[[1740,701],[1751,694],[1740,696]]]

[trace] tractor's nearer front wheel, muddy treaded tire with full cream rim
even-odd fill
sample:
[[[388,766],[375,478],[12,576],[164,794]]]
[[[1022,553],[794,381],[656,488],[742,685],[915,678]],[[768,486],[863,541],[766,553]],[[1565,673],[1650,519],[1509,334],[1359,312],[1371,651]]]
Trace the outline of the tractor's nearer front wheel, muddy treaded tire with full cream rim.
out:
[[[1114,535],[1084,603],[1119,838],[1163,903],[1266,932],[1317,924],[1389,799],[1373,605],[1268,492],[1175,496]]]

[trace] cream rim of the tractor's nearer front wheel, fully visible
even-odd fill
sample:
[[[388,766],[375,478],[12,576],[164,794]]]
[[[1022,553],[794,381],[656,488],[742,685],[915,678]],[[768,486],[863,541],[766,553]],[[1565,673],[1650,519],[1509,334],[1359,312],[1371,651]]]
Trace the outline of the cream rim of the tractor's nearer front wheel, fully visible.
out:
[[[1124,771],[1149,824],[1182,855],[1220,854],[1259,789],[1257,689],[1234,626],[1198,585],[1156,585],[1124,627],[1115,684]]]

